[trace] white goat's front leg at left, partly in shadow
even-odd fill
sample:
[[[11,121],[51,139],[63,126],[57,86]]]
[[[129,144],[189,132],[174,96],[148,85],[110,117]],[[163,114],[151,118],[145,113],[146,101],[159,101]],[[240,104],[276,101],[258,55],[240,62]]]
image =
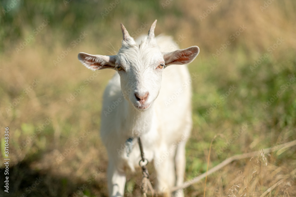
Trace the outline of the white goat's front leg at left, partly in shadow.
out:
[[[114,162],[109,161],[107,176],[109,196],[123,196],[124,186],[126,184],[126,174],[124,170],[118,169],[118,167],[114,165]]]

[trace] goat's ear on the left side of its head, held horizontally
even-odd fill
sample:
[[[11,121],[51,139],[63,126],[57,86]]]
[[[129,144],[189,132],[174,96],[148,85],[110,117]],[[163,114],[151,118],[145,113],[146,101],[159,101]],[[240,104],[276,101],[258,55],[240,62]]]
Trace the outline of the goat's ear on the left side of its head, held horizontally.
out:
[[[114,69],[116,56],[102,56],[102,55],[91,55],[87,53],[78,53],[78,60],[91,70],[98,69]]]

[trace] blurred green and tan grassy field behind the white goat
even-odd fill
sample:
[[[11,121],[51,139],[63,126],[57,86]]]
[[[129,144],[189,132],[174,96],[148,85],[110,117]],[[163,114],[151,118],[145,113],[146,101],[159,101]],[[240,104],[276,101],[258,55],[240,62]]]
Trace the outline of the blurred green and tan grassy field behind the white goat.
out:
[[[1,196],[108,195],[99,127],[115,71],[86,69],[77,54],[114,55],[121,22],[136,38],[157,19],[155,35],[200,47],[189,65],[198,77],[185,180],[206,171],[216,134],[209,168],[296,139],[296,1],[2,0],[0,8]],[[208,177],[206,196],[260,196],[268,188],[264,196],[296,196],[295,151],[232,162]],[[140,182],[140,172],[129,174],[125,195],[139,196]],[[203,192],[204,180],[184,190]]]

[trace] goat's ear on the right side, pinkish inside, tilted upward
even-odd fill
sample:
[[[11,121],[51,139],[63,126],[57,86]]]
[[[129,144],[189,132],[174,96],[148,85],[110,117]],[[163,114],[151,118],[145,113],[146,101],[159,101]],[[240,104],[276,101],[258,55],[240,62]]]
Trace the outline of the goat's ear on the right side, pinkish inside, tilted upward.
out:
[[[198,48],[198,46],[192,46],[186,49],[163,53],[165,66],[170,64],[189,64],[196,58],[199,52],[200,48]]]

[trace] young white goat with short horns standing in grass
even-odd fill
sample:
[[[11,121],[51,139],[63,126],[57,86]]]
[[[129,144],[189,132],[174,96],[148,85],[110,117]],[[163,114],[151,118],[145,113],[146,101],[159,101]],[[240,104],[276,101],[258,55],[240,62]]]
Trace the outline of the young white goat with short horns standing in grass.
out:
[[[156,20],[148,36],[136,43],[121,24],[122,46],[114,56],[78,54],[89,69],[117,70],[104,92],[101,121],[110,196],[123,196],[126,170],[139,167],[138,136],[145,158],[154,160],[159,193],[170,196],[170,188],[184,181],[185,144],[192,129],[191,79],[187,66],[180,64],[193,61],[199,48],[177,50],[170,37],[155,38],[155,25]],[[176,193],[184,196],[182,190]]]

